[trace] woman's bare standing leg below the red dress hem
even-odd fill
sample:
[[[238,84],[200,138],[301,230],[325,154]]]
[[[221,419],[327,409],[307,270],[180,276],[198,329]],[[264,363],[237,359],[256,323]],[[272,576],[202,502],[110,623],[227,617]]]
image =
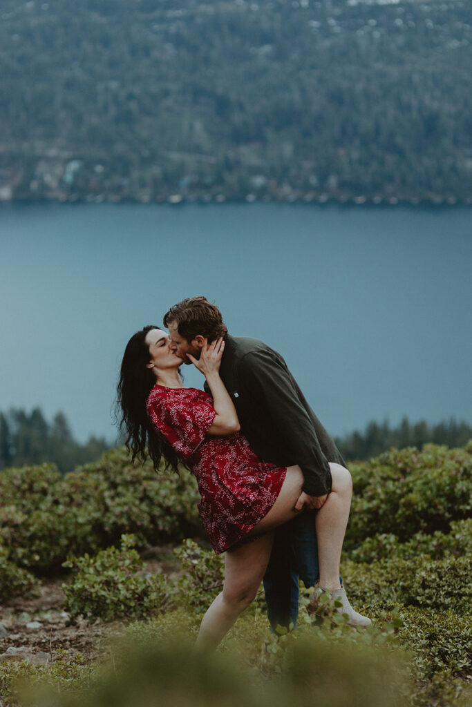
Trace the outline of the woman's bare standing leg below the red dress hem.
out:
[[[195,643],[197,648],[216,648],[239,614],[255,599],[273,539],[273,533],[266,532],[253,542],[226,551],[223,591],[202,619]]]

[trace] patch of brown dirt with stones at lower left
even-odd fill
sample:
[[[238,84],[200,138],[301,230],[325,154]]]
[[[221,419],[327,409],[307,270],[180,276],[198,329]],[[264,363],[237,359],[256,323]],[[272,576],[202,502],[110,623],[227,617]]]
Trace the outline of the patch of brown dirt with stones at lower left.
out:
[[[146,560],[149,573],[166,572],[166,562]],[[98,657],[100,639],[113,631],[113,625],[88,624],[78,619],[67,626],[69,616],[62,609],[64,579],[43,580],[41,595],[34,599],[15,599],[0,606],[0,660],[29,660],[46,665],[57,660],[62,651],[69,656],[81,653],[85,658]],[[1,635],[6,632],[6,636]]]

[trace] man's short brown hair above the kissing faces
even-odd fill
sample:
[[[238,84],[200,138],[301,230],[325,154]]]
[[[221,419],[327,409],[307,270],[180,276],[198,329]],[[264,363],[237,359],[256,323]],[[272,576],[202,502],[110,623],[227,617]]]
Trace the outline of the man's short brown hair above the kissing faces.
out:
[[[178,333],[189,343],[197,334],[214,341],[228,333],[217,305],[212,305],[206,297],[186,297],[173,305],[164,315],[163,324],[177,325]]]

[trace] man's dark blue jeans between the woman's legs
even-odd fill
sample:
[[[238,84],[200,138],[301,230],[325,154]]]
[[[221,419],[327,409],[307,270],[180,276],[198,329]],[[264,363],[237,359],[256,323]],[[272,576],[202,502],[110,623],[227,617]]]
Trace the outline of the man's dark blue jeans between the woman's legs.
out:
[[[313,587],[320,578],[316,542],[316,510],[307,510],[275,531],[274,545],[264,575],[265,604],[270,628],[297,626],[299,578]],[[340,577],[343,584],[343,578]]]

